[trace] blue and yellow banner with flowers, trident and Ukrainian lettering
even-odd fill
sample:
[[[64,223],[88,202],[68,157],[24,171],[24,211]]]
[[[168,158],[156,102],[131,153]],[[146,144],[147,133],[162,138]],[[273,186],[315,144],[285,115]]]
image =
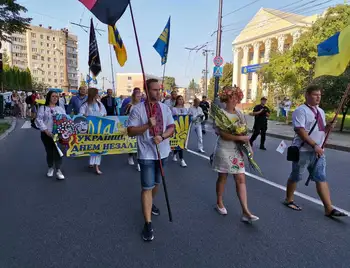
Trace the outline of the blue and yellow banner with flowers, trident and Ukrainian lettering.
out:
[[[170,138],[172,150],[185,149],[191,116],[174,116],[175,132]],[[128,116],[75,116],[56,115],[54,131],[67,157],[127,154],[137,152],[136,137],[127,135]]]

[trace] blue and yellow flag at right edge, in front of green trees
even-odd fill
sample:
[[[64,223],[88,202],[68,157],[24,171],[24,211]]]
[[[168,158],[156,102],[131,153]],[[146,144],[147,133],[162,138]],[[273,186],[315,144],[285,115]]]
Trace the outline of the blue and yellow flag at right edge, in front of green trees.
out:
[[[350,62],[350,25],[317,46],[315,76],[339,76]]]

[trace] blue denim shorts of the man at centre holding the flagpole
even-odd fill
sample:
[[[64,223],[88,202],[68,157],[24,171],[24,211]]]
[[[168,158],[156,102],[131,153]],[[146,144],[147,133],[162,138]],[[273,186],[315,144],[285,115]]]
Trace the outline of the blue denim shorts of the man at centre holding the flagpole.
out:
[[[138,159],[141,168],[141,186],[143,190],[152,190],[161,183],[162,174],[160,172],[159,160]],[[167,158],[162,159],[164,168]]]

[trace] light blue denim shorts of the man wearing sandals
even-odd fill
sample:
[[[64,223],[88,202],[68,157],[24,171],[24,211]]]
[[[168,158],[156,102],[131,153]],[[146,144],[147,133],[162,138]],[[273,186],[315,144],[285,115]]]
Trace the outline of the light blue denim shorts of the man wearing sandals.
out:
[[[306,169],[311,175],[311,180],[315,182],[325,182],[326,181],[326,157],[325,155],[321,156],[317,164],[314,167],[317,157],[315,152],[300,152],[299,162],[292,163],[292,173],[290,174],[289,179],[291,181],[298,182],[302,180],[303,174]]]

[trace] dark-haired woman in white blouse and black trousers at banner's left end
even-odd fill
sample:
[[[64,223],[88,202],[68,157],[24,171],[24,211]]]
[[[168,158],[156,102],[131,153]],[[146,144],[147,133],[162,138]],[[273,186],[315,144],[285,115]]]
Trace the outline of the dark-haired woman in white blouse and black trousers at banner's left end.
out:
[[[41,141],[46,151],[46,161],[49,167],[47,176],[53,177],[55,167],[57,179],[64,180],[65,178],[61,171],[62,157],[58,153],[52,134],[53,116],[56,114],[66,114],[66,111],[58,106],[58,94],[54,91],[49,91],[45,105],[40,106],[38,110],[35,125],[41,131]]]

